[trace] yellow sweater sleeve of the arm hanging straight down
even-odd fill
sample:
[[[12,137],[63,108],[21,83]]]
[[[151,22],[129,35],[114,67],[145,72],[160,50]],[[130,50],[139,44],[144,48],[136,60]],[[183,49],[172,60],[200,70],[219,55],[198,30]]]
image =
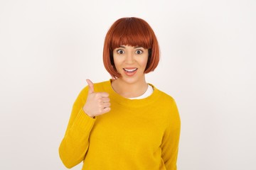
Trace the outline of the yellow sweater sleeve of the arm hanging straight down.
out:
[[[175,101],[171,103],[171,112],[166,120],[168,120],[168,123],[161,143],[161,157],[164,160],[166,170],[176,170],[176,162],[178,157],[178,142],[181,131],[181,120]]]

